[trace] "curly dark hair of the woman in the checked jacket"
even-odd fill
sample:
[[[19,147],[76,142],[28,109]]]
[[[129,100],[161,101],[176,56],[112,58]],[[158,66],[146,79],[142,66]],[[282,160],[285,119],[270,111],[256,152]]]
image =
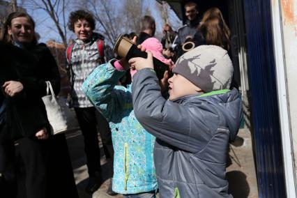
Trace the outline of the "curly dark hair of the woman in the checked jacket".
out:
[[[91,29],[94,30],[96,26],[96,21],[91,13],[86,12],[85,10],[76,10],[70,13],[68,20],[68,29],[74,31],[75,22],[78,20],[86,20],[89,22]]]

